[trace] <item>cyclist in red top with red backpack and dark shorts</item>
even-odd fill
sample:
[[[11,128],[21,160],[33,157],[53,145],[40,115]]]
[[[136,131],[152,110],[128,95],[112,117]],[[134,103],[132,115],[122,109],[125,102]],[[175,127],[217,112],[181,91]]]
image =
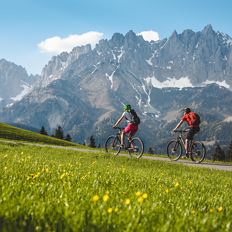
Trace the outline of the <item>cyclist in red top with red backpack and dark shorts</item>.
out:
[[[191,111],[190,108],[184,109],[184,116],[181,118],[180,122],[177,124],[173,131],[175,132],[175,130],[177,130],[183,122],[187,122],[189,126],[189,131],[187,132],[185,140],[185,150],[187,152],[186,156],[188,156],[189,140],[193,140],[194,135],[200,131],[200,126],[197,120],[197,114]]]

